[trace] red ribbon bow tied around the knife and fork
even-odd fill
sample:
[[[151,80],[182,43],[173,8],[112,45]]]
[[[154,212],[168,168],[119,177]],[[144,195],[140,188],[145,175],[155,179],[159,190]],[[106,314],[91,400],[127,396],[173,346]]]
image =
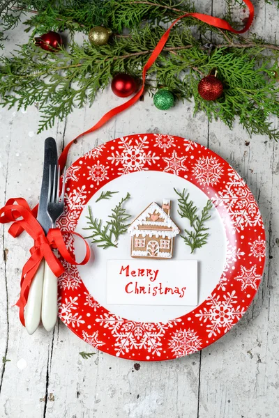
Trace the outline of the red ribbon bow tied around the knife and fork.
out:
[[[17,204],[15,204],[17,203]],[[33,277],[39,268],[40,262],[45,258],[45,261],[50,266],[50,269],[56,277],[61,276],[65,271],[61,261],[54,255],[52,249],[57,249],[61,256],[70,264],[73,265],[84,265],[89,261],[90,258],[90,247],[87,242],[82,238],[79,233],[71,232],[84,240],[86,245],[86,254],[84,260],[81,263],[77,263],[73,258],[68,249],[66,248],[65,242],[63,241],[63,235],[60,229],[50,229],[45,235],[42,226],[36,219],[36,208],[31,210],[29,204],[25,199],[9,199],[6,205],[0,209],[0,223],[8,224],[13,222],[8,232],[14,238],[20,235],[22,230],[33,238],[34,245],[30,249],[31,256],[29,260],[24,264],[22,269],[22,277],[20,281],[20,298],[17,300],[17,307],[20,308],[20,321],[22,325],[24,323],[24,307],[27,304],[29,289]],[[20,219],[18,219],[20,218]]]

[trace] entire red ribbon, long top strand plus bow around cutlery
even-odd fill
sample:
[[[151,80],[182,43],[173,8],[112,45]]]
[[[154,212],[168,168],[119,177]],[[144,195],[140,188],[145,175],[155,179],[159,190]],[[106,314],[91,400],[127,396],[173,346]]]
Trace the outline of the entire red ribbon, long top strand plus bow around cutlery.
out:
[[[233,33],[244,33],[246,32],[251,24],[252,20],[254,18],[254,7],[252,6],[252,3],[250,0],[243,0],[244,3],[249,8],[249,17],[246,22],[246,25],[244,26],[241,31],[236,31],[228,22],[226,22],[223,19],[220,19],[219,17],[213,17],[209,15],[204,15],[202,13],[186,13],[186,15],[178,17],[172,24],[169,26],[169,29],[165,31],[162,38],[160,38],[158,44],[154,48],[153,52],[151,53],[151,56],[147,60],[146,64],[144,65],[144,68],[142,70],[142,86],[135,95],[133,95],[132,98],[130,98],[127,102],[121,104],[120,106],[114,107],[114,109],[111,109],[108,111],[102,118],[100,118],[100,121],[98,121],[95,125],[93,125],[89,130],[86,130],[85,132],[82,132],[82,134],[77,135],[73,141],[70,141],[70,143],[64,148],[63,152],[61,153],[59,157],[59,165],[61,170],[66,166],[66,160],[68,156],[68,152],[70,150],[70,147],[73,145],[73,143],[79,139],[80,137],[83,137],[86,134],[89,134],[90,132],[93,132],[95,130],[98,130],[100,127],[105,125],[107,121],[110,121],[110,119],[114,118],[117,114],[120,114],[122,111],[128,109],[130,106],[133,106],[137,100],[140,99],[140,96],[142,93],[144,93],[144,85],[146,80],[146,72],[151,68],[151,65],[156,61],[160,53],[162,52],[163,48],[165,47],[165,44],[167,42],[167,39],[169,38],[169,33],[172,30],[173,26],[179,22],[179,20],[183,19],[183,17],[195,17],[195,19],[201,20],[202,22],[205,22],[207,24],[210,24],[211,26],[216,26],[220,29],[225,29],[227,31],[231,31]],[[14,203],[17,203],[15,205]],[[29,208],[29,205],[27,201],[24,199],[9,199],[6,203],[6,206],[4,206],[0,210],[0,223],[6,224],[8,222],[13,222],[13,224],[10,226],[10,229],[8,232],[13,235],[13,237],[17,237],[22,233],[23,230],[27,231],[29,235],[34,240],[34,245],[31,248],[31,257],[27,261],[27,263],[24,265],[24,268],[22,270],[22,279],[21,279],[21,291],[20,291],[20,299],[17,301],[17,306],[20,307],[20,320],[22,324],[24,325],[24,307],[27,304],[27,297],[29,293],[29,288],[31,286],[31,281],[36,274],[36,271],[38,270],[38,267],[40,265],[40,261],[45,258],[47,261],[47,264],[50,266],[52,272],[56,275],[56,277],[59,277],[63,270],[63,266],[61,265],[60,261],[56,256],[54,256],[52,249],[58,249],[61,256],[65,258],[66,261],[70,264],[74,265],[82,265],[85,264],[89,260],[90,256],[90,249],[89,245],[86,243],[86,256],[84,258],[84,261],[82,263],[77,263],[74,258],[72,258],[66,249],[66,245],[63,242],[63,236],[61,234],[61,231],[59,229],[50,229],[50,231],[47,233],[47,236],[45,236],[45,233],[36,220],[38,212],[38,205],[31,210]],[[2,216],[3,215],[3,216]],[[21,220],[17,220],[18,217],[22,217]],[[77,236],[81,236],[78,233],[75,233]],[[81,237],[82,238],[82,237]]]

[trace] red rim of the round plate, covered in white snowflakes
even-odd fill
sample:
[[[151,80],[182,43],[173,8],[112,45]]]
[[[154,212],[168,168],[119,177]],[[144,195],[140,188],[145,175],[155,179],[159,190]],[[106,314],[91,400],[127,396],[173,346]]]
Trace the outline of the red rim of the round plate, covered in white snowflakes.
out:
[[[100,188],[137,171],[187,179],[213,201],[227,238],[223,273],[216,287],[183,316],[139,322],[101,306],[87,291],[77,268],[65,264],[66,272],[59,278],[59,317],[77,336],[105,353],[139,361],[173,359],[209,346],[246,312],[264,270],[264,226],[250,189],[221,157],[188,139],[140,134],[107,142],[72,164],[60,228],[75,231],[86,203]],[[67,245],[73,249],[70,233]],[[106,251],[93,250],[96,254]]]

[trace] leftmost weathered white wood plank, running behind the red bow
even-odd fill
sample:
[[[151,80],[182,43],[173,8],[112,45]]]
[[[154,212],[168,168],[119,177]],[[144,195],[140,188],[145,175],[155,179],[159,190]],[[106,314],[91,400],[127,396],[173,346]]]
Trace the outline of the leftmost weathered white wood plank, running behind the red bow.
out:
[[[23,31],[20,25],[8,33],[6,54],[22,43]],[[27,199],[31,207],[38,202],[46,134],[37,136],[37,125],[38,109],[35,106],[26,112],[1,109],[1,206],[6,199],[17,196]],[[48,134],[61,137],[60,131],[63,132],[61,124]],[[24,233],[14,240],[5,227],[1,238],[0,355],[10,362],[1,364],[1,417],[38,418],[43,417],[45,410],[47,359],[52,335],[40,327],[29,336],[20,324],[17,307],[13,307],[19,296],[20,274],[29,258],[31,244],[31,238]],[[3,263],[3,249],[7,249],[6,263]]]

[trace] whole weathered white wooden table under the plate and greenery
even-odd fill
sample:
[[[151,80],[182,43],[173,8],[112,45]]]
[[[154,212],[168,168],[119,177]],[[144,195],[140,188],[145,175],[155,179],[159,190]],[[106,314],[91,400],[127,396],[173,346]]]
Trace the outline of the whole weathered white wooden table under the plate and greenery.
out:
[[[271,0],[271,2],[273,2]],[[223,0],[197,1],[199,11],[221,15]],[[276,5],[254,0],[252,31],[274,41],[279,32]],[[275,3],[275,1],[274,1]],[[22,26],[8,33],[7,50],[23,42]],[[278,38],[278,36],[277,36]],[[63,123],[37,135],[38,109],[0,110],[0,204],[24,196],[38,202],[43,169],[43,142],[53,136],[59,150],[91,127],[121,99],[108,88],[89,109],[76,109]],[[275,418],[279,410],[279,150],[266,137],[248,137],[235,123],[230,131],[193,106],[176,104],[158,111],[148,95],[133,109],[79,141],[68,163],[94,146],[124,134],[162,132],[208,146],[239,171],[252,190],[264,217],[267,261],[252,306],[231,332],[189,357],[141,363],[96,351],[63,323],[47,334],[42,327],[29,336],[13,307],[20,290],[20,272],[31,239],[14,240],[1,227],[0,259],[0,417],[9,418]],[[278,124],[278,121],[274,121]],[[0,360],[1,360],[0,358]],[[277,411],[277,412],[276,412]]]

